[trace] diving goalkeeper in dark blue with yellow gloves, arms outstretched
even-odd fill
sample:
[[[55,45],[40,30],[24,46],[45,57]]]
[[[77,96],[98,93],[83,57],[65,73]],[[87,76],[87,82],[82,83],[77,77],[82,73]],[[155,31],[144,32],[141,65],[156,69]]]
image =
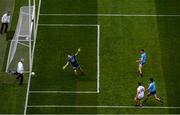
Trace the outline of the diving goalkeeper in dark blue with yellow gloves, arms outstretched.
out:
[[[79,48],[75,55],[68,55],[68,61],[67,61],[66,65],[63,66],[63,70],[65,70],[66,67],[70,64],[74,70],[75,75],[78,75],[78,70],[81,72],[82,75],[85,75],[83,69],[80,67],[80,65],[78,64],[78,61],[76,59],[76,57],[80,51],[81,51],[81,49]]]

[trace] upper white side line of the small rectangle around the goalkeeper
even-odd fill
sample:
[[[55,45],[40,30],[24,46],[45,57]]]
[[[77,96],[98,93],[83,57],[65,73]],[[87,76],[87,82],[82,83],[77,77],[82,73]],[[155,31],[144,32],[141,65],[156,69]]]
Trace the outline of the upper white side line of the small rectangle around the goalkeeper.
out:
[[[96,24],[39,24],[39,26],[94,26],[97,27]]]

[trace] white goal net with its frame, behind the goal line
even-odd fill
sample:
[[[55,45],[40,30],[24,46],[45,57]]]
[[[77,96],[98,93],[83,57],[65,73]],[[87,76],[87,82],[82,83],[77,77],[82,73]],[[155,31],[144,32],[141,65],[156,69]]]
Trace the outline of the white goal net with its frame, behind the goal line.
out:
[[[24,58],[24,70],[29,71],[31,63],[31,52],[33,45],[33,23],[34,6],[23,6],[20,8],[19,19],[15,34],[11,40],[6,72],[16,71],[17,63]]]

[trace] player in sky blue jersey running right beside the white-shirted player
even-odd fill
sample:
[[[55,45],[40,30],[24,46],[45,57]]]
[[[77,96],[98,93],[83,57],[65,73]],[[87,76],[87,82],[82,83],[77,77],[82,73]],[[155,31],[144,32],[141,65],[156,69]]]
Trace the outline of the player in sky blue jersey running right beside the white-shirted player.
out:
[[[150,84],[146,91],[148,91],[148,94],[147,94],[147,98],[144,100],[144,102],[146,102],[150,96],[154,96],[154,98],[157,101],[163,103],[163,101],[159,97],[157,97],[156,86],[155,86],[155,82],[154,82],[153,78],[150,78]]]

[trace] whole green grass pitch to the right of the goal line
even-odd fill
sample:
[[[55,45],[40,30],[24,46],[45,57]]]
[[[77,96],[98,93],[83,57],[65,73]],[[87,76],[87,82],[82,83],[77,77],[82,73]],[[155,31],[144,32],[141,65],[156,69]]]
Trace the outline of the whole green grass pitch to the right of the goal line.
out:
[[[149,78],[155,79],[157,95],[164,103],[150,98],[143,104],[145,107],[180,107],[180,1],[41,2],[33,63],[36,74],[31,79],[28,114],[180,113],[180,108],[128,108],[135,105],[137,82],[147,87]],[[71,67],[64,71],[62,66],[67,55],[76,53],[79,47],[78,61],[86,75],[76,77]],[[140,49],[147,53],[143,78],[136,75],[135,60],[139,58]],[[78,91],[81,93],[75,93]],[[23,94],[25,97],[25,88]],[[18,112],[20,109],[24,108]]]

